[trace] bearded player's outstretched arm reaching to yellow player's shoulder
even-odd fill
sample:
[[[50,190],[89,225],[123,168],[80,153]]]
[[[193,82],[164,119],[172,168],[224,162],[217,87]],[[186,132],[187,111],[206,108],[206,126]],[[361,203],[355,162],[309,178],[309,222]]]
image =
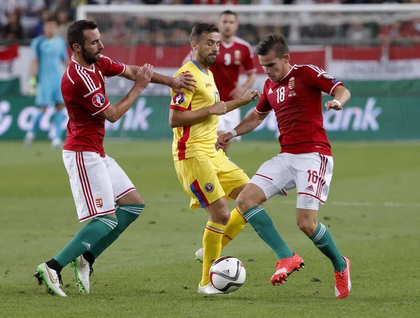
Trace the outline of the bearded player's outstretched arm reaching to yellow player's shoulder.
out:
[[[140,66],[126,65],[125,72],[121,74],[121,76],[127,78],[127,80],[135,80],[135,75],[139,69]],[[197,80],[193,78],[193,74],[191,73],[179,74],[178,76],[172,78],[153,72],[151,82],[155,84],[167,85],[174,89],[174,92],[180,94],[185,94],[185,92],[181,91],[181,89],[187,89],[190,92],[194,92],[194,89],[197,88],[197,85],[195,85]]]

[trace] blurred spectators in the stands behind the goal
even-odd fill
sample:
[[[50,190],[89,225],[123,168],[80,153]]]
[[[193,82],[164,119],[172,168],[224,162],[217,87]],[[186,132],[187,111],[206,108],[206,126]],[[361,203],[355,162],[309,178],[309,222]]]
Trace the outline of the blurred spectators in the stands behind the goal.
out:
[[[0,45],[10,43],[29,44],[31,38],[43,34],[43,22],[55,17],[59,24],[58,35],[65,38],[66,29],[76,18],[76,7],[80,4],[311,4],[311,3],[390,3],[405,0],[1,0],[0,1]],[[420,3],[420,0],[409,0]],[[196,22],[148,18],[136,15],[100,15],[97,20],[104,42],[113,44],[183,45],[189,42],[190,30]],[[241,21],[239,21],[241,22]],[[276,26],[241,23],[237,33],[255,45],[258,39],[269,32],[283,34],[295,44],[351,44],[378,45],[398,43],[412,45],[420,43],[420,18],[406,21],[366,21],[354,17],[350,22],[324,24],[297,23]]]

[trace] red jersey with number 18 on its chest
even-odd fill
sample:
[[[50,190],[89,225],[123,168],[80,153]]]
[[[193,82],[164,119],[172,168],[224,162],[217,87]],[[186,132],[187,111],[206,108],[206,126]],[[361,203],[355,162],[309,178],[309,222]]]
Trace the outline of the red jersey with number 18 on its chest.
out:
[[[274,110],[281,152],[331,155],[323,129],[322,92],[332,94],[342,82],[314,65],[294,65],[279,82],[266,80],[255,111]]]

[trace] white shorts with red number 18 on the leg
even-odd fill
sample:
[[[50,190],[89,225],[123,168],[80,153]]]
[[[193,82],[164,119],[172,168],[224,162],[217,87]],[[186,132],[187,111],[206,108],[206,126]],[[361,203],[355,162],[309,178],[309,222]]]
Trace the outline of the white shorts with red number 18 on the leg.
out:
[[[297,189],[297,196],[309,196],[325,203],[332,178],[332,157],[311,152],[307,154],[277,154],[265,161],[251,179],[264,191],[267,199],[275,194],[286,196]]]

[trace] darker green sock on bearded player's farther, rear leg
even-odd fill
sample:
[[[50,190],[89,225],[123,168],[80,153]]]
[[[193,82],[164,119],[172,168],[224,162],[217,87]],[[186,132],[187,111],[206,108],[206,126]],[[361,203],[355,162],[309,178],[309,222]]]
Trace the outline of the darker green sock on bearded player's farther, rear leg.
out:
[[[92,254],[94,259],[106,250],[109,245],[111,245],[117,238],[120,236],[127,227],[134,222],[140,213],[144,210],[144,204],[125,204],[120,205],[116,210],[116,215],[118,219],[118,225],[116,228],[111,231],[107,236],[99,240],[96,245],[92,245],[92,248],[89,249],[89,252]],[[84,255],[83,255],[84,256]],[[89,257],[89,256],[87,256]],[[86,258],[87,259],[87,258]]]

